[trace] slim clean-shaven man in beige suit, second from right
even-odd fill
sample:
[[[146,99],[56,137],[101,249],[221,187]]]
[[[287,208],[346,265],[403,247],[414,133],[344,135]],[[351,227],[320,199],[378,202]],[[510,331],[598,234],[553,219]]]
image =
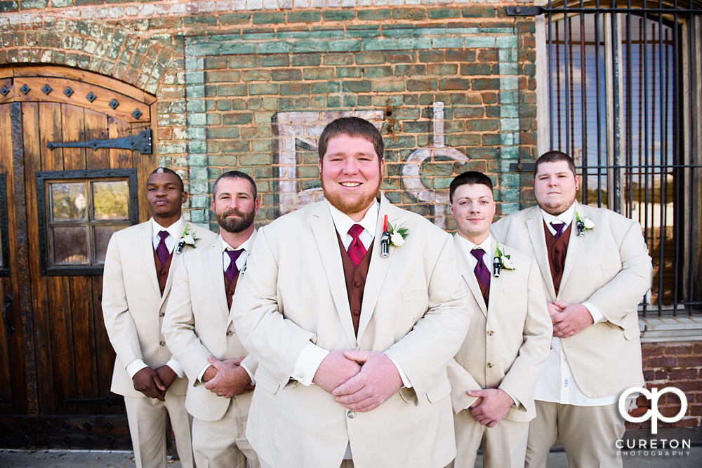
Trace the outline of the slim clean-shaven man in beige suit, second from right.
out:
[[[541,274],[536,261],[490,235],[495,201],[488,176],[458,175],[449,200],[458,267],[476,311],[449,364],[457,450],[451,466],[473,467],[482,446],[484,467],[522,468],[552,334]]]

